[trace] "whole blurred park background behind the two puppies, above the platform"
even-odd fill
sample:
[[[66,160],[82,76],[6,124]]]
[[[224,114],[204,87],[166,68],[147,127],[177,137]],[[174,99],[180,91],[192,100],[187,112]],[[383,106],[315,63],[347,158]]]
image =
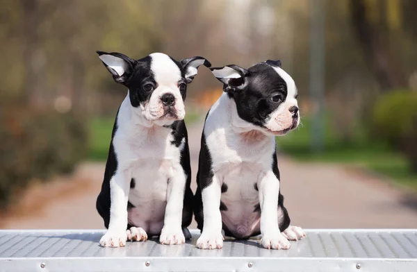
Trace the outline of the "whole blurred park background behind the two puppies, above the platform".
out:
[[[0,228],[104,227],[95,198],[126,89],[96,50],[281,60],[302,114],[277,138],[293,223],[417,228],[416,12],[414,0],[3,0]],[[194,176],[221,87],[204,67],[188,87]]]

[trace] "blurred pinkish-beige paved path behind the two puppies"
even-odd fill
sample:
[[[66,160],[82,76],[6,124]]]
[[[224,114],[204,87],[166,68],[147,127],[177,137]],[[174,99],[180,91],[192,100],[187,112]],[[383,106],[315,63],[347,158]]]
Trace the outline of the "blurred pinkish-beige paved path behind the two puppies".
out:
[[[193,190],[202,124],[189,128]],[[296,132],[295,132],[296,133]],[[417,228],[416,200],[374,176],[329,164],[301,164],[279,156],[281,192],[293,224],[304,228]],[[67,194],[51,196],[44,185],[44,205],[3,222],[2,228],[103,228],[95,198],[103,163],[82,164]],[[53,191],[53,190],[52,190]],[[21,212],[22,213],[22,212]],[[192,228],[195,227],[193,222]]]

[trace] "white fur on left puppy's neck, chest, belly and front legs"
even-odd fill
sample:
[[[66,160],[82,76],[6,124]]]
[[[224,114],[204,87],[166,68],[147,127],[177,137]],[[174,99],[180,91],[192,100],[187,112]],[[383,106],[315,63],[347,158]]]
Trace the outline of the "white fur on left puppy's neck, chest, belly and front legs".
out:
[[[180,153],[185,142],[179,147],[171,144],[170,129],[152,124],[140,113],[131,106],[128,94],[120,106],[113,137],[117,171],[110,181],[110,224],[101,246],[126,244],[128,217],[130,223],[141,228],[141,236],[163,230],[163,234],[179,239],[178,243],[165,240],[166,244],[183,241],[181,212],[187,177]],[[136,180],[134,189],[129,186],[131,178]],[[135,206],[129,216],[128,199]]]

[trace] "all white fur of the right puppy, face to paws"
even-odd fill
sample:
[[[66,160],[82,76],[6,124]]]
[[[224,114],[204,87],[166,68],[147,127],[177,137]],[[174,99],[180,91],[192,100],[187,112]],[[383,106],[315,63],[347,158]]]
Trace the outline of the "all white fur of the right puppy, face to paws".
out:
[[[225,68],[214,70],[213,74],[218,78],[237,77],[238,73],[234,69]],[[235,228],[243,236],[260,229],[263,236],[261,244],[265,248],[286,249],[290,247],[288,238],[304,235],[301,228],[293,226],[285,230],[284,235],[279,231],[278,222],[283,214],[277,209],[279,180],[271,168],[275,152],[274,135],[288,128],[285,127],[287,121],[292,124],[293,116],[289,108],[297,105],[297,89],[291,76],[281,68],[274,69],[286,81],[288,95],[286,101],[270,114],[267,130],[240,119],[235,101],[225,93],[208,113],[204,137],[211,155],[214,178],[213,183],[202,190],[204,228],[202,236],[197,240],[199,248],[222,246],[222,241],[218,244],[222,237],[222,217],[229,230]],[[220,192],[222,182],[228,187],[223,194]],[[252,189],[255,182],[259,192]],[[222,216],[219,216],[220,198],[227,206],[227,210],[221,212]],[[253,213],[256,203],[261,205],[260,219],[248,220],[241,216]]]

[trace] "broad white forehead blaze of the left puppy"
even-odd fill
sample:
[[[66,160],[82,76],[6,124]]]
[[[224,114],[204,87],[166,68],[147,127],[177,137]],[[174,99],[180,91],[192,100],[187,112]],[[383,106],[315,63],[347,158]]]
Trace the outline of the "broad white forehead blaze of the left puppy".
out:
[[[181,71],[175,62],[164,53],[152,53],[151,70],[158,85],[173,85],[181,80]]]

